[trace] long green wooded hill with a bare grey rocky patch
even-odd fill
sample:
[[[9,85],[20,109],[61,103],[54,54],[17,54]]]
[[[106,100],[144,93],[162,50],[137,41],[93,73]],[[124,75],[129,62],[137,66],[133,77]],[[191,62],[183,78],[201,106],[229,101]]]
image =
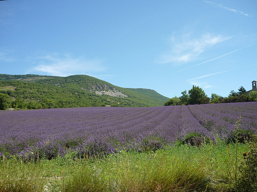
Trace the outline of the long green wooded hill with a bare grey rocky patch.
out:
[[[14,108],[27,109],[161,106],[169,99],[154,90],[121,88],[88,75],[58,77],[0,74],[0,93],[10,96]]]

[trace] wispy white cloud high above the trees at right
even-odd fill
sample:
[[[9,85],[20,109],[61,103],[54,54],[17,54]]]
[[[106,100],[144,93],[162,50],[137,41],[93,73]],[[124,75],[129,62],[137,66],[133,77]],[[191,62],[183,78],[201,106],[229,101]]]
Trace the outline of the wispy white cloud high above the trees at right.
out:
[[[161,56],[161,63],[180,64],[195,60],[207,48],[228,40],[232,37],[221,35],[203,34],[199,38],[192,38],[191,34],[181,36],[172,35],[170,38],[172,49]]]

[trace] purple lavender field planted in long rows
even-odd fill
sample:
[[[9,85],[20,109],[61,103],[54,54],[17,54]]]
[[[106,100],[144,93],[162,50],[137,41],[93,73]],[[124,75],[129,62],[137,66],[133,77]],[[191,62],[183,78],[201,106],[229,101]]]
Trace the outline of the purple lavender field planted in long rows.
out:
[[[196,133],[215,141],[257,131],[257,102],[152,108],[67,108],[0,112],[0,156],[48,159],[162,147]]]

